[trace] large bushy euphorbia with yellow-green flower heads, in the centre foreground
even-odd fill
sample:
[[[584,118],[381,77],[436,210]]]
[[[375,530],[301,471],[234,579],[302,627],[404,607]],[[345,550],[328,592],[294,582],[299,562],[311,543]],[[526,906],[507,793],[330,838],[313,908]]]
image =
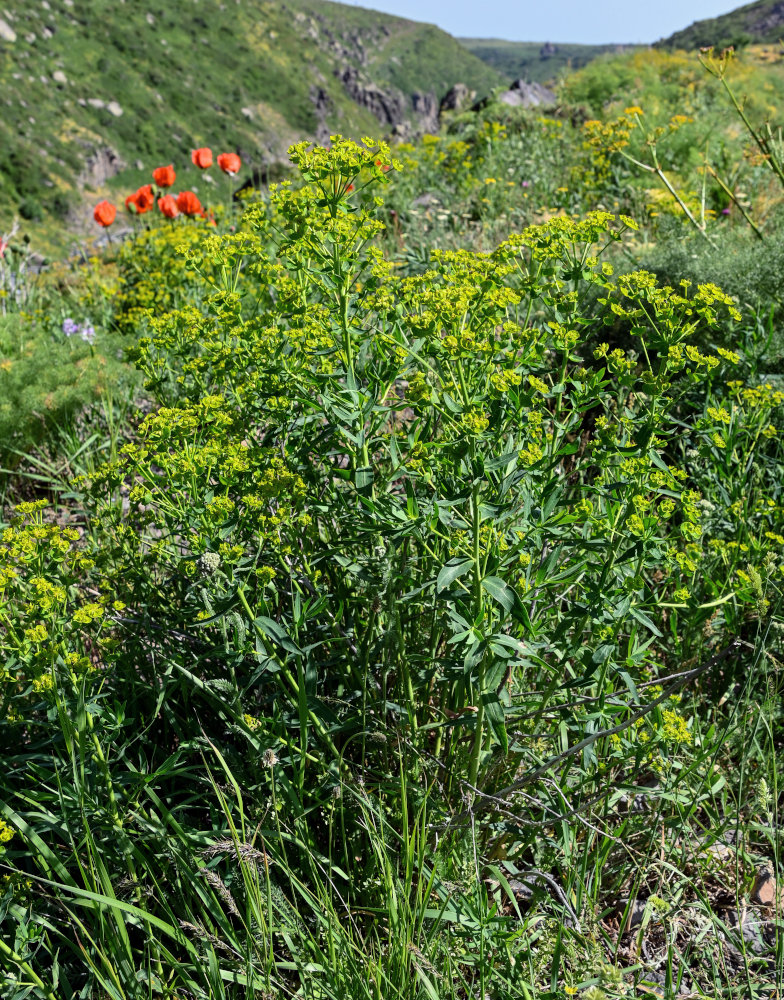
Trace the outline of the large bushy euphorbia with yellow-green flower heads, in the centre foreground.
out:
[[[292,159],[301,185],[188,251],[204,310],[137,347],[165,405],[94,487],[130,489],[123,599],[217,629],[232,697],[275,692],[302,761],[312,734],[345,766],[383,721],[490,791],[541,765],[529,674],[535,718],[581,687],[600,726],[707,641],[678,608],[738,603],[676,461],[680,395],[737,361],[694,337],[737,313],[712,285],[616,280],[602,255],[633,223],[604,212],[397,278],[374,244],[388,148]]]

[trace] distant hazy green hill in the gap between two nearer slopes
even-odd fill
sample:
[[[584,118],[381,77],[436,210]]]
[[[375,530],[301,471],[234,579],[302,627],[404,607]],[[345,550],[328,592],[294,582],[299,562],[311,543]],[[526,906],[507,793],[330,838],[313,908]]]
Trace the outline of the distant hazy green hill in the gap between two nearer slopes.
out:
[[[597,56],[631,51],[633,45],[572,45],[551,42],[507,42],[500,38],[461,38],[475,56],[507,80],[522,78],[550,83],[565,72],[580,69]]]

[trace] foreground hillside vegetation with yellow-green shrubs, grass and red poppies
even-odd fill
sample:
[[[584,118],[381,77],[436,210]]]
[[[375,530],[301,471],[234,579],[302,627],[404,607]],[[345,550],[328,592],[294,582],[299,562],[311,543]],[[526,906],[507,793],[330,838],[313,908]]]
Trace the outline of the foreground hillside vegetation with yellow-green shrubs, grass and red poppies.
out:
[[[0,228],[3,1000],[784,993],[780,59]]]

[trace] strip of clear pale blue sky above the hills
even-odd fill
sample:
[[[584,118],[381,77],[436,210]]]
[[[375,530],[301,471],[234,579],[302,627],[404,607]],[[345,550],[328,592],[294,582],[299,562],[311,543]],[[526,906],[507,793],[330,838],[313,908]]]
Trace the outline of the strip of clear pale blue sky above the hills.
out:
[[[453,35],[518,42],[655,42],[747,0],[343,0]]]

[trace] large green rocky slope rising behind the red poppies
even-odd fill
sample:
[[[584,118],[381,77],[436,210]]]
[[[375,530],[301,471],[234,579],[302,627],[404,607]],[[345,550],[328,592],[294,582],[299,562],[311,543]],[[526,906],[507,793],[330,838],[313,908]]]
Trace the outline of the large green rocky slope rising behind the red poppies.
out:
[[[68,216],[205,144],[247,166],[330,132],[433,127],[503,80],[430,25],[324,0],[5,0],[0,223]]]

